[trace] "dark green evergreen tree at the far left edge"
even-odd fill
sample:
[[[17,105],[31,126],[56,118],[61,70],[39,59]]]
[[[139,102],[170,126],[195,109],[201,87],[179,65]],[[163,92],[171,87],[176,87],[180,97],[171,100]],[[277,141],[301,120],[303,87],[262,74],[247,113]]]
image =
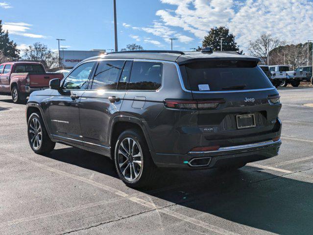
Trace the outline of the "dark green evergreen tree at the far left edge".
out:
[[[0,20],[0,51],[9,60],[15,61],[20,58],[20,50],[16,47],[17,44],[10,41],[8,31],[2,29],[2,21]]]

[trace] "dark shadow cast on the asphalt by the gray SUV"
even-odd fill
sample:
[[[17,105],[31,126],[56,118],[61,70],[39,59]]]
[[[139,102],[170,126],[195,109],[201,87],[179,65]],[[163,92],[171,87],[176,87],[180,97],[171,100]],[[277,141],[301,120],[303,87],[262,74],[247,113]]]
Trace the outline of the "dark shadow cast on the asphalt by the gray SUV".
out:
[[[113,161],[101,155],[63,148],[48,157],[118,178]],[[175,203],[181,206],[176,209],[181,213],[196,213],[197,219],[216,226],[214,221],[219,217],[225,219],[228,228],[238,228],[237,223],[263,230],[260,234],[312,234],[313,185],[301,181],[300,176],[293,177],[299,180],[250,166],[226,173],[215,169],[166,170],[155,185],[140,191],[156,205],[160,203],[158,199]]]

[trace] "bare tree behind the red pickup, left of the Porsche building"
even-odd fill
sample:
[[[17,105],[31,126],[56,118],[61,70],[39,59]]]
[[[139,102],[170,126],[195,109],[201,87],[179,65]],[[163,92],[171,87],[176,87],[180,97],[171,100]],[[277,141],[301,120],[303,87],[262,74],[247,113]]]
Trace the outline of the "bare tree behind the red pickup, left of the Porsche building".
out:
[[[42,63],[46,70],[58,66],[58,55],[51,51],[47,45],[34,43],[23,50],[22,58],[24,60],[36,61]]]

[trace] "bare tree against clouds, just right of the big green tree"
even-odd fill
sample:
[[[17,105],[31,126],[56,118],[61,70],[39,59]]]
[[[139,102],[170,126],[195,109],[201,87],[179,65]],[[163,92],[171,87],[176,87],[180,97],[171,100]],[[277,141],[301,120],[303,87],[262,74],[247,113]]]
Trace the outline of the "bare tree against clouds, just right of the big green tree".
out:
[[[269,51],[282,44],[283,43],[279,41],[279,39],[272,38],[270,34],[264,33],[256,41],[250,41],[248,50],[252,55],[259,57],[265,64],[268,64],[267,56]]]

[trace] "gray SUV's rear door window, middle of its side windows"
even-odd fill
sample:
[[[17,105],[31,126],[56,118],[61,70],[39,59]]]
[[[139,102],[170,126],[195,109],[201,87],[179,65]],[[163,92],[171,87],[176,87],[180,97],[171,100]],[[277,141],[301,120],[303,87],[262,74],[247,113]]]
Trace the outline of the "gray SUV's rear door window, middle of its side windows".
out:
[[[124,61],[100,61],[96,69],[92,90],[116,90]]]

